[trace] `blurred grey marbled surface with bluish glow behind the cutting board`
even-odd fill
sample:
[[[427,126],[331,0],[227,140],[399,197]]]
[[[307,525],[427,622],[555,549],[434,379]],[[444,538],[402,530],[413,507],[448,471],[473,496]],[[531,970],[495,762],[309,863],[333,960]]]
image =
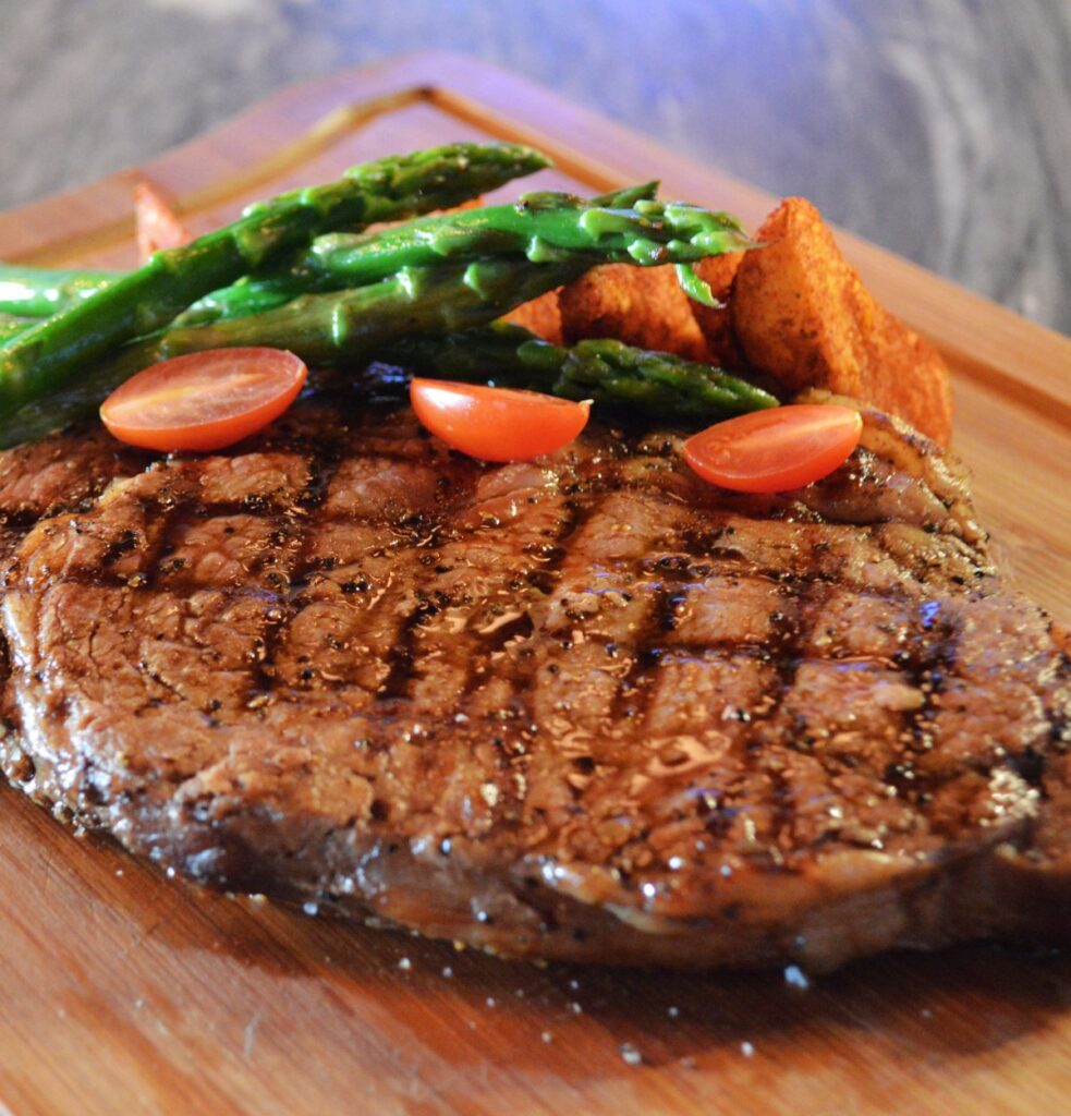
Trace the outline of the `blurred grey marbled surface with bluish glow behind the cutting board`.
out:
[[[0,208],[430,47],[1071,331],[1071,0],[0,0]]]

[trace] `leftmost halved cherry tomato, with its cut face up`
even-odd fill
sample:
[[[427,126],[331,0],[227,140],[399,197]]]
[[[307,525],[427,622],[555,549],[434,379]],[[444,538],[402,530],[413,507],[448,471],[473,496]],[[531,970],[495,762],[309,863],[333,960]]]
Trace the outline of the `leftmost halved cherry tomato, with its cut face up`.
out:
[[[284,349],[191,353],[132,376],[100,405],[100,419],[145,450],[222,450],[278,419],[308,373]]]

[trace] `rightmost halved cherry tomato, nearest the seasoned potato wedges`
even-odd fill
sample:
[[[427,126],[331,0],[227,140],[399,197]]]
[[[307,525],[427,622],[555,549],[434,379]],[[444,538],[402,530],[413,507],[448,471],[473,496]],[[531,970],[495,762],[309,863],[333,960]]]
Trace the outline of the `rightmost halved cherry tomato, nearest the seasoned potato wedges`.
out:
[[[737,492],[783,492],[831,473],[859,444],[851,407],[803,403],[730,419],[684,443],[684,460],[712,484]]]

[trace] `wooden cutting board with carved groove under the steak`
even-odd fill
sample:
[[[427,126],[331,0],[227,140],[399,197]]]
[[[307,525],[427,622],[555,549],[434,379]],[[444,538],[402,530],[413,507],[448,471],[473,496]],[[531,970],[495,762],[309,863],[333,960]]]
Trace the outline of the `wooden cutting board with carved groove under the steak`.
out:
[[[772,208],[515,77],[423,55],[292,89],[145,167],[0,214],[0,258],[129,264],[143,175],[206,229],[367,157],[484,137],[552,154],[546,185],[660,175],[666,194],[749,225]],[[842,240],[946,353],[981,514],[1017,584],[1071,623],[1071,343]],[[0,789],[0,1109],[17,1116],[1035,1114],[1069,1095],[1067,958],[962,947],[810,982],[505,963],[201,894]]]

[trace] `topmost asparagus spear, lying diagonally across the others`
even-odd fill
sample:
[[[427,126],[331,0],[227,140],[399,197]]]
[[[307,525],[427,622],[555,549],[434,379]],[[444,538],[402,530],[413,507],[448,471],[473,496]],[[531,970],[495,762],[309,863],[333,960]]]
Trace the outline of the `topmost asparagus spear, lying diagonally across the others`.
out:
[[[546,165],[527,147],[454,144],[366,163],[337,182],[258,202],[233,224],[157,252],[0,348],[0,415],[62,387],[79,365],[166,325],[202,296],[319,233],[442,209]]]

